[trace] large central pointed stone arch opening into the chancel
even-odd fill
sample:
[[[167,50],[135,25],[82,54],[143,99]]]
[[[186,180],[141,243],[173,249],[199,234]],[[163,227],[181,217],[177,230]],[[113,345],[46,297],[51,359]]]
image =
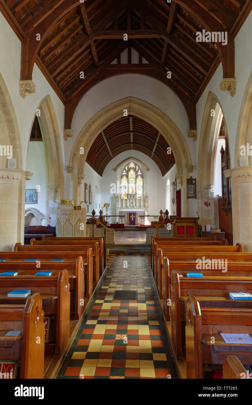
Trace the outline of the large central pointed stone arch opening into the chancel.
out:
[[[182,175],[182,181],[184,180],[185,186],[186,178],[188,177],[187,166],[191,165],[191,156],[180,130],[166,114],[152,104],[138,98],[126,97],[103,108],[95,114],[80,131],[73,145],[69,159],[69,166],[73,167],[71,180],[73,181],[74,201],[78,201],[78,174],[84,173],[86,156],[94,139],[109,124],[121,118],[125,109],[128,114],[142,118],[153,125],[164,136],[172,148],[177,173]],[[84,154],[80,154],[80,148],[82,147],[84,148]],[[164,153],[166,153],[166,151],[164,151]],[[183,215],[189,215],[189,205],[186,196],[183,198]]]

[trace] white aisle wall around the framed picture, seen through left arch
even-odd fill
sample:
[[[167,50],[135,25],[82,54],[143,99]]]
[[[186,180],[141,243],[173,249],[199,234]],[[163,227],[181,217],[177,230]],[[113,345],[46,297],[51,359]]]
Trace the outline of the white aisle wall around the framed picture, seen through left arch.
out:
[[[25,209],[35,208],[46,216],[46,161],[43,142],[29,141],[27,171],[32,172],[33,176],[26,182],[25,188],[34,189],[40,185],[40,192],[38,192],[38,204],[25,204]],[[42,220],[42,225],[47,225],[45,220]]]

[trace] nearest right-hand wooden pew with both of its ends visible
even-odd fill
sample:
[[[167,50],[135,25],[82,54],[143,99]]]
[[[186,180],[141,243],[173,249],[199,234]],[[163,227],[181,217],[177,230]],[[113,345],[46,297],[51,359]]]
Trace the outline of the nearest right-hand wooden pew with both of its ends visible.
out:
[[[214,252],[214,253],[221,253],[221,252],[230,252],[230,253],[240,253],[242,252],[242,247],[240,244],[237,244],[236,246],[208,246],[208,245],[202,245],[202,246],[187,246],[187,247],[179,247],[179,246],[172,246],[172,247],[164,247],[160,249],[158,247],[158,244],[154,244],[154,252],[153,252],[153,275],[154,279],[156,282],[157,290],[160,294],[160,297],[162,298],[162,263],[163,263],[163,257],[167,256],[170,258],[170,254],[174,254],[175,252],[178,253],[183,253],[183,252],[199,252],[199,254],[202,254],[204,256],[203,252]]]

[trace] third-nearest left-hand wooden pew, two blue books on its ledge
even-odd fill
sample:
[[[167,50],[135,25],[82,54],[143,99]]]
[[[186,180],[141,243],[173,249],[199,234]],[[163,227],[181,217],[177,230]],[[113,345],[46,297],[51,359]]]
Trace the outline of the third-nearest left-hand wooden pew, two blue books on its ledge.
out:
[[[18,252],[6,252],[8,256],[14,256],[12,258],[6,258],[10,260],[17,260],[16,256],[19,256]],[[30,256],[30,253],[27,254]],[[26,257],[26,259],[29,258]],[[91,287],[91,295],[92,295],[92,283],[90,286],[89,278],[92,275],[92,249],[87,252],[87,263],[83,264],[82,256],[79,256],[76,260],[73,258],[72,261],[62,261],[62,262],[52,262],[52,261],[43,261],[42,258],[37,258],[40,263],[36,264],[35,262],[25,262],[21,261],[19,258],[18,261],[6,261],[0,262],[0,273],[4,271],[16,270],[18,271],[19,275],[35,275],[38,271],[51,271],[52,275],[59,275],[61,270],[67,269],[69,274],[69,283],[70,283],[70,316],[74,317],[74,319],[80,319],[85,306],[82,305],[82,301],[86,298],[90,298],[90,287]],[[40,267],[37,268],[37,265]],[[2,277],[2,276],[1,276]],[[87,286],[88,284],[88,286]],[[84,291],[84,286],[85,291]],[[82,300],[82,301],[81,301]]]

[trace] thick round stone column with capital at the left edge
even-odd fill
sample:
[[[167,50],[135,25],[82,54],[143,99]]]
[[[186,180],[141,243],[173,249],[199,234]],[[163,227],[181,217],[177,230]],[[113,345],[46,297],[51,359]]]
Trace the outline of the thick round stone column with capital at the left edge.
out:
[[[24,235],[23,183],[22,170],[0,168],[0,250],[10,251]],[[24,205],[23,205],[24,208]],[[23,222],[22,222],[23,212]]]

